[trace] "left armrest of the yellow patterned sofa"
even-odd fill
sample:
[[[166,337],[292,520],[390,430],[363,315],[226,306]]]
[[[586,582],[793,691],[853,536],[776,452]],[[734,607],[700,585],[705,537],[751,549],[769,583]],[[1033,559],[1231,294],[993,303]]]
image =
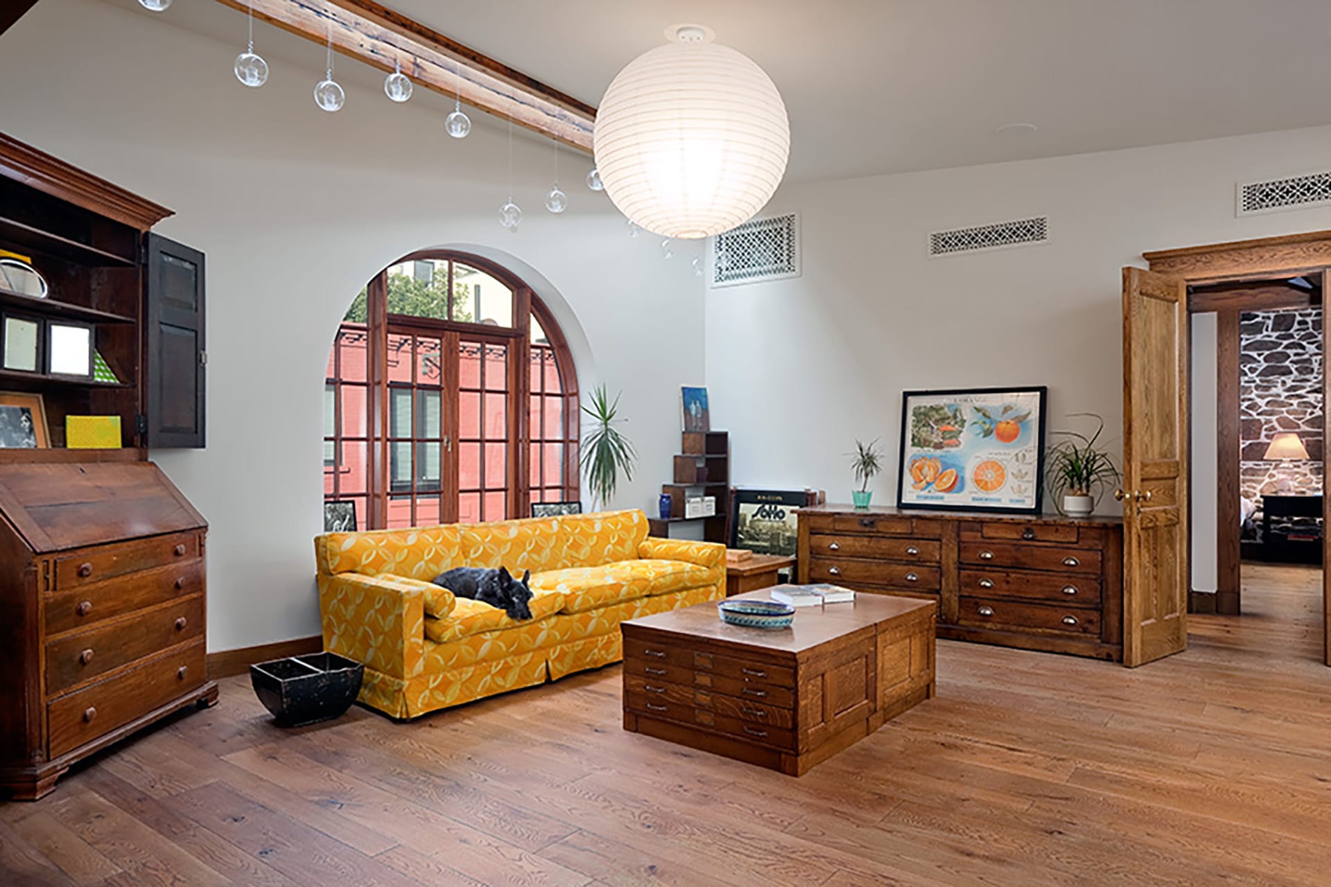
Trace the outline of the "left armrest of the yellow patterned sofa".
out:
[[[318,582],[323,649],[395,678],[421,673],[425,594],[438,586],[359,573],[319,573]]]

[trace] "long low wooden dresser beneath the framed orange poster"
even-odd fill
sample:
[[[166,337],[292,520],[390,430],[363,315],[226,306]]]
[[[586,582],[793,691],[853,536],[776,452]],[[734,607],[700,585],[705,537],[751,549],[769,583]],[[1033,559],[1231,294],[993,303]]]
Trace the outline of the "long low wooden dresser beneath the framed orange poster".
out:
[[[819,505],[799,512],[801,582],[938,601],[938,637],[1123,657],[1117,517]]]

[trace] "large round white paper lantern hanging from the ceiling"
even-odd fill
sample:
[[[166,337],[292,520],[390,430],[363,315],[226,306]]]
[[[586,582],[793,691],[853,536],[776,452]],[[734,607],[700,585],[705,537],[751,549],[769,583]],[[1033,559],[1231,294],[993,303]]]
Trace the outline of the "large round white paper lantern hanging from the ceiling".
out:
[[[720,234],[772,197],[791,153],[785,104],[747,56],[709,28],[675,25],[669,43],[615,76],[592,132],[606,193],[632,222],[669,238]]]

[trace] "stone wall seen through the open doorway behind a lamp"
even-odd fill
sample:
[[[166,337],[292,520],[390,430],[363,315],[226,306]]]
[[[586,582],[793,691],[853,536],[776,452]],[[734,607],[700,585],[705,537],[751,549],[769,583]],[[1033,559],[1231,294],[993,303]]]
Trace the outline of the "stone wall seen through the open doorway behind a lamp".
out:
[[[1255,499],[1276,491],[1322,492],[1322,309],[1244,313],[1239,327],[1239,488]],[[1271,438],[1292,431],[1307,461],[1263,461]]]

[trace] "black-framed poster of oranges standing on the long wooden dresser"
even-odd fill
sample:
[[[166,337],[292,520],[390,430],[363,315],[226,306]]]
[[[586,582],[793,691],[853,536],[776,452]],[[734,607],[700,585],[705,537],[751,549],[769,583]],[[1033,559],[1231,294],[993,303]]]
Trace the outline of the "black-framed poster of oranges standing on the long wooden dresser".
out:
[[[1038,515],[1047,394],[904,391],[897,507]]]

